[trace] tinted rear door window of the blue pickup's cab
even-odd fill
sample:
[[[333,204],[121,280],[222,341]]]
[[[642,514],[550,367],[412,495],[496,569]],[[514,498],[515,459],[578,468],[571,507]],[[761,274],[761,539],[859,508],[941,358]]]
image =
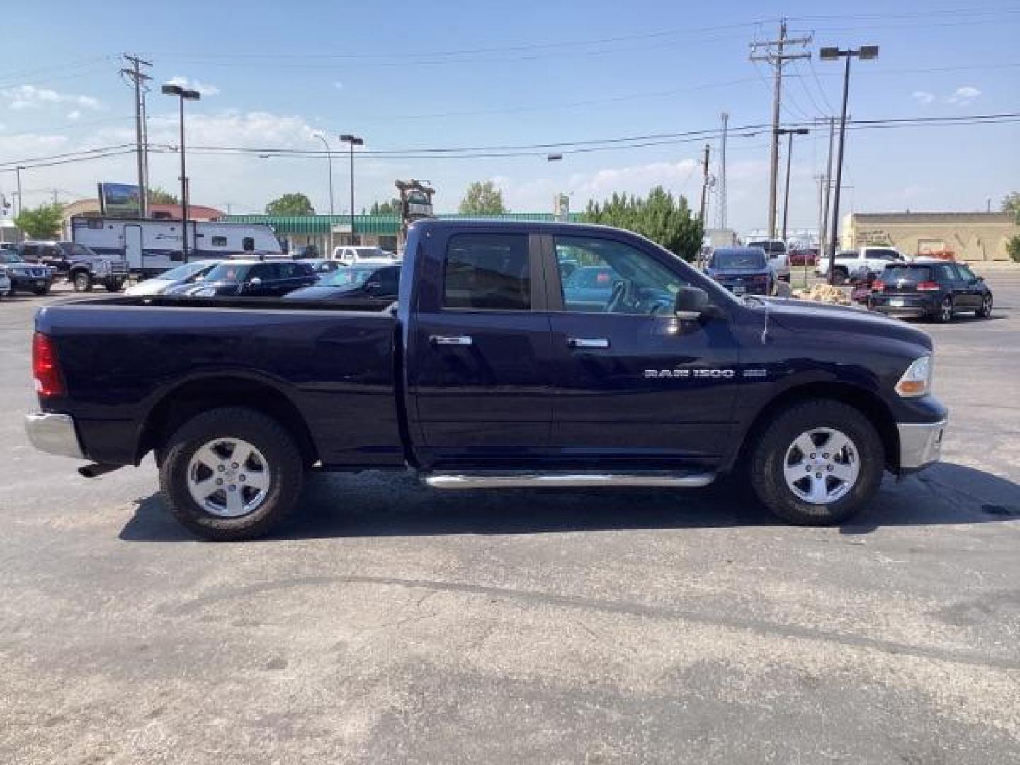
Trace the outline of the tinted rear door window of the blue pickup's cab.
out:
[[[451,237],[445,274],[445,308],[526,311],[531,307],[526,236],[460,234]]]

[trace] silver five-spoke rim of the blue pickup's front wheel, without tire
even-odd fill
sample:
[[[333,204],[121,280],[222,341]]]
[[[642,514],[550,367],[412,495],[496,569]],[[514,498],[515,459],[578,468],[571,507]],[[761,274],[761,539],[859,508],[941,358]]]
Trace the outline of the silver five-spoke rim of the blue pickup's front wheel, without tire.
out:
[[[814,427],[797,437],[782,462],[786,487],[813,505],[846,497],[861,472],[857,447],[831,427]]]

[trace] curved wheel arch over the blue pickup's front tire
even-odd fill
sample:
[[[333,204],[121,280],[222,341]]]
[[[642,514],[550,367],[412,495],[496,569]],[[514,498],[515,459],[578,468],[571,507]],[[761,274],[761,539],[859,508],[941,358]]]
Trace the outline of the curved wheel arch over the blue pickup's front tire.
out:
[[[881,398],[852,382],[817,381],[796,385],[776,394],[765,402],[744,432],[741,447],[734,456],[734,463],[742,463],[768,427],[769,423],[788,406],[802,401],[829,399],[852,406],[861,412],[878,431],[882,442],[884,463],[887,469],[900,467],[900,434],[896,418]]]

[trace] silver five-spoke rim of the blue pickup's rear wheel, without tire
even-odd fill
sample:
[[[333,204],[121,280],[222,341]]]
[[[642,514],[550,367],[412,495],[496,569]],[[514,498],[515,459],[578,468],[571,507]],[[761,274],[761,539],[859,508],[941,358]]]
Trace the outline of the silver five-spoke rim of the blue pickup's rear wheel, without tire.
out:
[[[188,491],[198,505],[221,518],[254,512],[269,494],[269,463],[247,441],[216,439],[188,463]]]

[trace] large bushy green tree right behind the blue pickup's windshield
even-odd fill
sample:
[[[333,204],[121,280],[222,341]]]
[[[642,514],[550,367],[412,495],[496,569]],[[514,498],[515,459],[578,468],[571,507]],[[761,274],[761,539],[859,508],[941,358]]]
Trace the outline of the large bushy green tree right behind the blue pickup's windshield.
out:
[[[613,194],[601,204],[591,201],[582,219],[648,237],[688,261],[698,256],[705,237],[705,227],[692,213],[686,198],[674,198],[661,186],[649,192],[646,199]]]

